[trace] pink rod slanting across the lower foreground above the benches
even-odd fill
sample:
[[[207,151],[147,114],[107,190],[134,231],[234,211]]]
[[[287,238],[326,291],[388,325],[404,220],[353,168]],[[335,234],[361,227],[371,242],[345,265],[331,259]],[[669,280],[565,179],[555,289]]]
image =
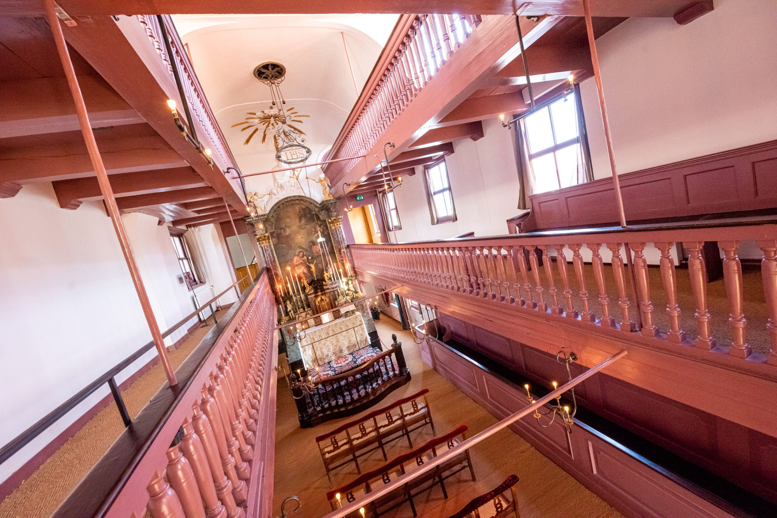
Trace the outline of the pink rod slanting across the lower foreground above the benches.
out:
[[[547,395],[543,396],[542,398],[539,398],[537,401],[535,401],[531,405],[528,405],[523,410],[515,412],[513,415],[510,415],[510,417],[502,419],[500,422],[497,422],[497,424],[484,429],[483,432],[473,435],[469,439],[463,441],[462,443],[459,443],[458,446],[453,447],[450,450],[446,451],[444,454],[437,455],[437,457],[434,457],[433,459],[424,463],[423,465],[419,466],[413,471],[409,471],[409,473],[407,473],[406,475],[402,475],[399,478],[395,478],[393,481],[389,482],[389,484],[382,485],[381,487],[376,488],[371,492],[368,492],[367,495],[364,495],[363,499],[359,499],[354,502],[351,502],[349,505],[344,506],[340,509],[337,509],[336,511],[333,511],[332,513],[327,514],[326,516],[324,516],[324,518],[342,518],[343,516],[348,516],[351,513],[354,513],[354,516],[358,516],[360,507],[365,507],[369,502],[372,502],[378,497],[385,495],[386,493],[392,492],[396,488],[401,488],[403,485],[406,485],[409,481],[413,480],[413,478],[418,478],[420,475],[423,475],[424,473],[427,473],[428,471],[431,471],[432,469],[437,468],[437,466],[439,466],[440,464],[443,464],[445,461],[448,461],[451,458],[462,454],[462,451],[468,450],[469,448],[475,446],[477,443],[481,442],[482,440],[485,440],[488,437],[493,436],[494,433],[499,432],[501,429],[507,428],[507,426],[510,426],[518,419],[521,419],[521,417],[524,417],[524,415],[529,415],[530,413],[535,412],[535,408],[539,408],[542,405],[545,405],[545,403],[550,402],[554,398],[556,398],[557,395],[562,395],[564,392],[570,390],[570,388],[573,388],[581,381],[584,381],[588,377],[591,377],[594,374],[596,374],[599,370],[602,370],[608,365],[610,365],[611,363],[614,363],[615,361],[620,360],[623,356],[626,355],[626,353],[628,353],[628,351],[626,349],[623,349],[620,353],[616,354],[615,356],[610,356],[607,360],[599,363],[594,367],[591,367],[590,369],[586,370],[583,374],[580,374],[580,376],[573,378],[566,384],[563,384],[561,387],[557,388],[555,391],[549,392]]]

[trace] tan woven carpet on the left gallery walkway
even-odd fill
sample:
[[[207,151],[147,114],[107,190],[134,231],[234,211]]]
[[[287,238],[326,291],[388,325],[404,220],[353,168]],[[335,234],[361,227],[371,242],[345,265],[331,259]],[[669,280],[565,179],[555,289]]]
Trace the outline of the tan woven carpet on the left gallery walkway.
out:
[[[225,310],[217,311],[221,318]],[[209,319],[208,322],[213,322]],[[172,366],[178,368],[212,326],[195,329],[185,342],[170,352]],[[156,363],[122,392],[124,404],[134,419],[166,381],[162,366]],[[124,422],[113,399],[64,443],[8,497],[0,502],[0,518],[47,518],[64,502],[89,470],[124,431]],[[75,516],[73,518],[76,518]]]

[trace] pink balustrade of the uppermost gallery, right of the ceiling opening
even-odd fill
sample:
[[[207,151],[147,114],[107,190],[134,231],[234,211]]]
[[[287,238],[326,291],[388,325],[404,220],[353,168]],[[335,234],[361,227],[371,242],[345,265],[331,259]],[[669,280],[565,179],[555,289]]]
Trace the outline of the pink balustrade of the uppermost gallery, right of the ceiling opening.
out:
[[[406,15],[337,136],[330,160],[364,155],[480,23],[476,15]],[[324,167],[337,183],[359,158]]]

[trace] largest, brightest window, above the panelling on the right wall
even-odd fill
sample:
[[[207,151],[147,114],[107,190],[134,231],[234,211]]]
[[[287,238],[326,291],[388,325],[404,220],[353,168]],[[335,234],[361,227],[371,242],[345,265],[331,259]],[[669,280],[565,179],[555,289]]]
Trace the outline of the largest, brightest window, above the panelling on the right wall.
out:
[[[572,91],[521,119],[534,193],[586,181],[577,112],[576,92]]]

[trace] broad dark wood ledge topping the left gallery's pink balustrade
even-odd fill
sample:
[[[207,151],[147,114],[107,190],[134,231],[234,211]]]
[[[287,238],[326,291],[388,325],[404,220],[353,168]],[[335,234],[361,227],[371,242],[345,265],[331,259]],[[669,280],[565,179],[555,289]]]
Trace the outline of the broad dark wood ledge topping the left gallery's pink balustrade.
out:
[[[227,310],[225,315],[178,367],[176,370],[178,384],[173,387],[169,387],[167,384],[162,385],[162,388],[152,396],[130,426],[127,426],[127,429],[121,433],[116,442],[106,451],[106,454],[68,495],[68,499],[54,512],[52,518],[106,516],[124,484],[127,483],[172,412],[176,410],[183,395],[190,388],[192,381],[203,367],[218,339],[229,329],[234,328],[235,316],[239,315],[246,301],[253,300],[253,297],[259,292],[262,286],[262,277],[267,276],[266,270],[263,268],[260,271],[259,275],[256,276],[259,282],[251,290],[246,290],[241,294],[238,303],[232,304],[232,307]]]

